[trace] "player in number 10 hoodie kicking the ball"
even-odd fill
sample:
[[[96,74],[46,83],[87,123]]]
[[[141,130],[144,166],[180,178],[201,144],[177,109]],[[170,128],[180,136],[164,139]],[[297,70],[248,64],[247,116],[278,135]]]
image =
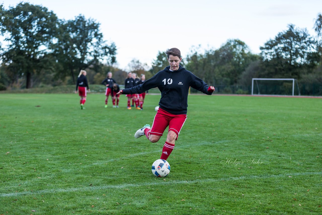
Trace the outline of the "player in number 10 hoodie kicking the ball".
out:
[[[208,95],[211,95],[215,89],[213,86],[208,87],[203,80],[179,65],[182,60],[179,49],[168,49],[166,55],[169,66],[164,70],[159,71],[143,84],[118,92],[119,95],[133,94],[143,93],[154,87],[159,88],[161,92],[159,110],[154,117],[152,126],[145,125],[137,130],[134,137],[139,138],[146,135],[150,142],[157,142],[166,127],[169,126],[161,155],[161,159],[164,160],[169,157],[175,147],[175,141],[178,139],[180,130],[187,119],[189,87],[191,86]]]

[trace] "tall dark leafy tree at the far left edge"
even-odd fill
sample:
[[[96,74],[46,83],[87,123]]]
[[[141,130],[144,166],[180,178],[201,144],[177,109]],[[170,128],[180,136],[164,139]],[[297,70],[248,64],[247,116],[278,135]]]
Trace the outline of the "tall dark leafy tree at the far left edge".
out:
[[[39,5],[19,3],[5,10],[0,5],[0,31],[7,45],[1,57],[12,76],[25,76],[26,88],[32,87],[32,75],[48,66],[48,49],[56,35],[57,17]]]

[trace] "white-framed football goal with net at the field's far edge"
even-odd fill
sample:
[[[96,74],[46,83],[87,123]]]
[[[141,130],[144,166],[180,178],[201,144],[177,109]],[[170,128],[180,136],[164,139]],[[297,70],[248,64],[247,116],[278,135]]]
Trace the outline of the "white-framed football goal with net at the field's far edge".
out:
[[[298,81],[295,78],[252,78],[251,94],[258,95],[292,95],[294,88],[300,95]]]

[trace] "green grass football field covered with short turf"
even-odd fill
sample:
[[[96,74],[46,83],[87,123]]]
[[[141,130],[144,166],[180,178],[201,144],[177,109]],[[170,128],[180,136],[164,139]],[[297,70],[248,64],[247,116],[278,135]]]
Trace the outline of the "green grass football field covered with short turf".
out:
[[[190,95],[156,178],[159,98],[0,94],[0,214],[322,214],[322,99]]]

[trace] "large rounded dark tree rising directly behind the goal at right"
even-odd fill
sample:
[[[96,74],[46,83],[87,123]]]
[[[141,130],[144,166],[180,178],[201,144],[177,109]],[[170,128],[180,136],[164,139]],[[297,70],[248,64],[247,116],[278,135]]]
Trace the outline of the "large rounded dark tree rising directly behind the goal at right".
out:
[[[275,39],[260,47],[263,60],[263,77],[299,78],[309,64],[314,52],[314,40],[306,29],[296,29],[293,24],[280,32]]]

